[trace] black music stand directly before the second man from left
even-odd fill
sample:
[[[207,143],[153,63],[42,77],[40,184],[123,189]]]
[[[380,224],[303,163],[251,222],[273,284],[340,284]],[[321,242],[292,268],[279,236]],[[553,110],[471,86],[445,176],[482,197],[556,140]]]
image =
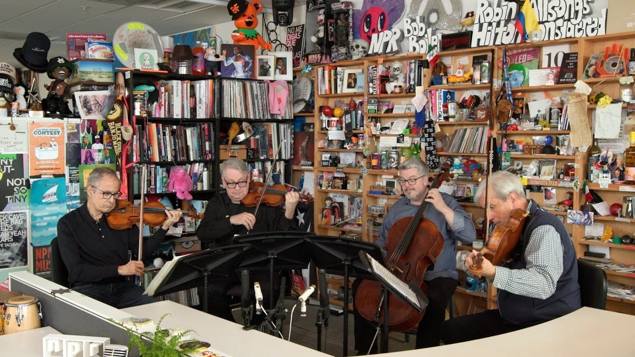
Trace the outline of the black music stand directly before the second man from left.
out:
[[[244,256],[241,269],[269,271],[269,309],[274,308],[274,267],[305,269],[311,261],[304,243],[304,237],[309,234],[302,231],[274,231],[234,237],[240,243],[253,246]]]

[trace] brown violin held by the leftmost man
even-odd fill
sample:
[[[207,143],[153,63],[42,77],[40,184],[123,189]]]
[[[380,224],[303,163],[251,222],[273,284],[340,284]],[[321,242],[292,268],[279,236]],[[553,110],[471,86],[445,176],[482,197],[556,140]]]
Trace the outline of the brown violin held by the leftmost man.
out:
[[[189,202],[183,201],[184,205],[189,205]],[[159,227],[166,220],[166,210],[173,210],[171,208],[165,208],[159,201],[146,202],[143,207],[144,224],[150,227]],[[192,217],[192,219],[203,219],[203,213],[197,213],[196,210],[191,208],[190,210],[180,210],[183,215]],[[133,205],[130,201],[124,201],[123,199],[117,199],[115,208],[106,214],[106,222],[112,229],[126,229],[139,223],[141,215],[141,207]]]

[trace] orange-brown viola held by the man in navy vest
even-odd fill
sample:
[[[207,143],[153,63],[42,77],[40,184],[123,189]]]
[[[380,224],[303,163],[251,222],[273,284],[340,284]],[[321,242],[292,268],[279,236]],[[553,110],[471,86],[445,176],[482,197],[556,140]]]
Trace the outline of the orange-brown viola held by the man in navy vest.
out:
[[[527,210],[516,208],[516,210],[511,212],[511,217],[507,224],[497,224],[491,232],[487,245],[476,255],[474,263],[467,267],[470,273],[481,275],[484,257],[495,266],[500,266],[503,262],[511,259],[523,236],[523,227],[525,227],[528,215],[529,212]]]

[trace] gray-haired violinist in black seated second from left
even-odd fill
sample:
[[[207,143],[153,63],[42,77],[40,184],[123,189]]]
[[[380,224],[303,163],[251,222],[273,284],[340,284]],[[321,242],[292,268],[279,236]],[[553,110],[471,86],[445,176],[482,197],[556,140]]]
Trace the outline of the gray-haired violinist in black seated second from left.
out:
[[[246,205],[244,201],[248,195],[254,193],[250,192],[253,182],[251,182],[250,171],[242,159],[231,158],[223,161],[220,177],[225,192],[219,192],[210,199],[205,208],[205,216],[196,231],[203,248],[234,244],[235,235],[247,234],[248,232],[262,233],[297,229],[295,208],[300,201],[298,192],[284,192],[284,208],[282,205],[272,206],[265,203],[260,203],[260,205],[255,203],[254,206],[251,206]],[[266,280],[269,280],[268,273]],[[210,314],[234,321],[227,290],[239,283],[238,275],[210,283],[208,290]],[[199,295],[202,296],[200,292]],[[265,300],[267,298],[265,296]]]

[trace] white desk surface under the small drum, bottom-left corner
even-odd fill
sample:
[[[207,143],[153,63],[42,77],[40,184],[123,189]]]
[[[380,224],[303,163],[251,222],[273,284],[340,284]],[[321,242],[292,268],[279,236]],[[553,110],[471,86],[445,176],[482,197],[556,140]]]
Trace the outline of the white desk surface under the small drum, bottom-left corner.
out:
[[[59,333],[52,327],[0,335],[0,352],[3,356],[42,357],[42,338],[49,333]]]

